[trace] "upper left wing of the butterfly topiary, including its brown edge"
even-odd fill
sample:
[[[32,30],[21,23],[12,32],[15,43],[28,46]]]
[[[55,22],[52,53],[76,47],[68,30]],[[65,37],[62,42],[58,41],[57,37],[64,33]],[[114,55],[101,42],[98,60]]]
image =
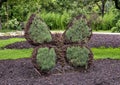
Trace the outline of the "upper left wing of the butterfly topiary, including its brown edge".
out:
[[[32,15],[25,30],[26,39],[33,44],[48,43],[52,41],[52,36],[48,26],[43,22],[39,15]]]

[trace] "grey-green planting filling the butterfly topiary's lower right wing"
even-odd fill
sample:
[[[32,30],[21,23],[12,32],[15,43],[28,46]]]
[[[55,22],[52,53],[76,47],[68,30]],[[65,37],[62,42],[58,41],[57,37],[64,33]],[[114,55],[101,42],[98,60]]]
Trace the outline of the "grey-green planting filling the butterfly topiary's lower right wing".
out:
[[[87,66],[90,51],[86,47],[68,47],[66,57],[75,67]]]

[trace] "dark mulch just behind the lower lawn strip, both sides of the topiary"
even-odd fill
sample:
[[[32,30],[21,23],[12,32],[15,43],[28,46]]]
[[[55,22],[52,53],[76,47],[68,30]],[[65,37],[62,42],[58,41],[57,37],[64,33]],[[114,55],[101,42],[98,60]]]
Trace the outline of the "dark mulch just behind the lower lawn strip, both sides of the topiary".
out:
[[[4,38],[5,39],[5,38]],[[94,34],[88,42],[89,47],[120,47],[120,35]],[[7,45],[5,48],[31,48],[27,41]]]

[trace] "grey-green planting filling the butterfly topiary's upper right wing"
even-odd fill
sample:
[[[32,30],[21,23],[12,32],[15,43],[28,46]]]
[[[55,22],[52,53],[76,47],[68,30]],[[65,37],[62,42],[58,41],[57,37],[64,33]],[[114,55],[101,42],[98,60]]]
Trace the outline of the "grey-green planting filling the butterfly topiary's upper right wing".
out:
[[[85,19],[77,20],[74,18],[72,26],[65,33],[65,37],[72,42],[87,41],[87,37],[91,35],[90,30]]]

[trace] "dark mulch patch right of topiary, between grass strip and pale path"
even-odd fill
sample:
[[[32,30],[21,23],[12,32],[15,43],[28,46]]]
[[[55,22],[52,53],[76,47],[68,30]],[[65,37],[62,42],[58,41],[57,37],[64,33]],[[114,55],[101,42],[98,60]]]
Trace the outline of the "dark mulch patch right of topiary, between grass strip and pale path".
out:
[[[88,45],[90,47],[120,47],[120,35],[94,34]]]

